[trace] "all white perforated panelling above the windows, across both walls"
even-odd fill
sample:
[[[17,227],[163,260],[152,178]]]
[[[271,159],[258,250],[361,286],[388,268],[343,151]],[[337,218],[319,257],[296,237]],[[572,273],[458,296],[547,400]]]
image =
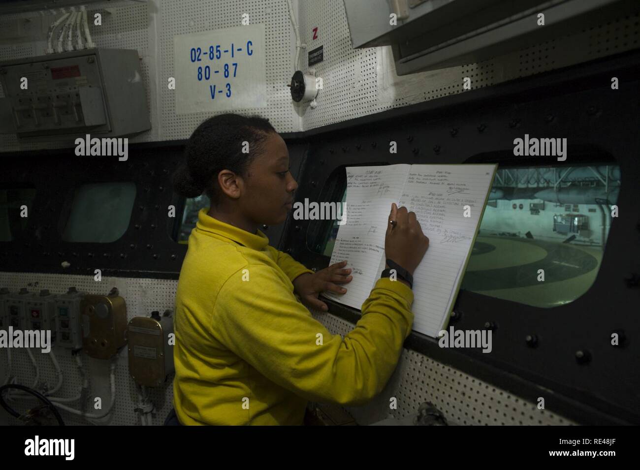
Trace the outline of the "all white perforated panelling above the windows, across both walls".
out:
[[[342,0],[292,3],[298,12],[301,42],[307,43],[307,49],[301,51],[300,67],[306,70],[308,51],[324,46],[324,61],[313,66],[324,85],[316,109],[309,104],[293,106],[285,86],[295,56],[295,36],[285,0],[154,0],[109,9],[113,14],[104,19],[103,26],[91,27],[93,38],[100,47],[138,49],[152,118],[152,130],[131,142],[186,139],[200,122],[215,114],[175,114],[173,91],[167,87],[174,72],[173,36],[236,26],[243,13],[250,15],[252,24],[266,24],[268,106],[237,112],[266,116],[278,132],[314,129],[462,93],[464,77],[470,77],[472,88],[481,88],[640,47],[640,17],[636,14],[490,61],[397,77],[390,47],[352,49]],[[3,20],[14,17],[19,15]],[[316,40],[314,27],[318,28]],[[3,44],[0,59],[35,56],[42,54],[44,47],[44,35],[32,43]],[[58,143],[19,146],[11,135],[0,136],[0,146],[4,151],[60,148]]]

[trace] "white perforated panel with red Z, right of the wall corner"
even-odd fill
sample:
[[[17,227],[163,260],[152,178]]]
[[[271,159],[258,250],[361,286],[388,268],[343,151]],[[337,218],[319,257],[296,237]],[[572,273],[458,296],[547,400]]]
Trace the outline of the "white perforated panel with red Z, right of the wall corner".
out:
[[[303,127],[314,129],[461,93],[464,77],[470,77],[472,88],[482,88],[636,49],[639,19],[636,13],[489,61],[397,77],[389,46],[352,49],[342,1],[301,1],[302,42],[309,50],[324,45],[324,61],[313,66],[323,77],[324,90],[315,109],[305,106]],[[312,39],[315,26],[317,40]]]

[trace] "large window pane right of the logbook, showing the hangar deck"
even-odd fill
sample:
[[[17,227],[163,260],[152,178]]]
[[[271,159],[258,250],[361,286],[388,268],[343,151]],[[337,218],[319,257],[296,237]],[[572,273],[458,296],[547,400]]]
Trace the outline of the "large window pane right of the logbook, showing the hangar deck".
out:
[[[620,167],[499,168],[462,288],[538,307],[595,281],[620,192]]]

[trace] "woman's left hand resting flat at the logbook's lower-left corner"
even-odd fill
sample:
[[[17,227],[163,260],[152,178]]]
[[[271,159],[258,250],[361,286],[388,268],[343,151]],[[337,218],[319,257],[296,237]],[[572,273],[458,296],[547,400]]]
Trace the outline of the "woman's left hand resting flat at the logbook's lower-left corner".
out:
[[[310,272],[300,274],[296,279],[293,279],[294,292],[300,295],[300,301],[308,308],[327,311],[326,304],[318,300],[318,294],[326,290],[337,294],[347,292],[344,287],[339,286],[339,284],[349,283],[353,279],[353,276],[349,276],[351,269],[343,269],[346,265],[346,261],[341,261],[314,274]]]

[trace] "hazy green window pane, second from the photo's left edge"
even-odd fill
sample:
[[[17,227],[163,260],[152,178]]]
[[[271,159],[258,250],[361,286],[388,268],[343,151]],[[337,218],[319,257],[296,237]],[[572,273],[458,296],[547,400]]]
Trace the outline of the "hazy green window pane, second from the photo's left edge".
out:
[[[65,242],[115,242],[124,235],[134,200],[134,183],[92,183],[76,189],[62,239]]]

